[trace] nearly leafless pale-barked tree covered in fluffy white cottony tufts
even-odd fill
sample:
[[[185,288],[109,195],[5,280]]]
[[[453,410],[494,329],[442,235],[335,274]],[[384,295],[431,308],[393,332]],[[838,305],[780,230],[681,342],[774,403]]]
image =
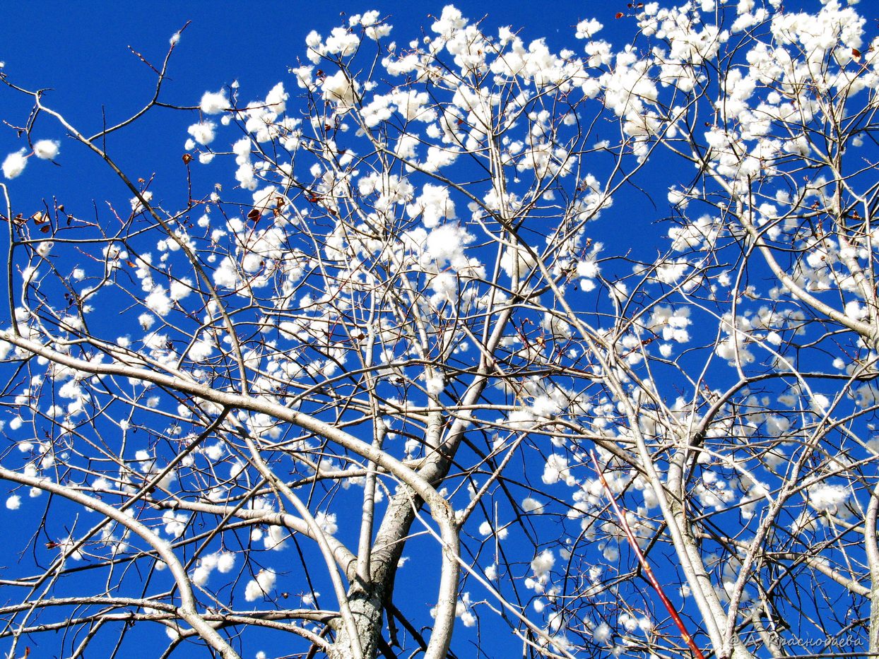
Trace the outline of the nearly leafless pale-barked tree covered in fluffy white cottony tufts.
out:
[[[9,656],[879,652],[875,26],[629,8],[367,11],[255,102],[165,98],[177,34],[94,134],[2,76],[4,177],[61,130],[130,197],[0,185]]]

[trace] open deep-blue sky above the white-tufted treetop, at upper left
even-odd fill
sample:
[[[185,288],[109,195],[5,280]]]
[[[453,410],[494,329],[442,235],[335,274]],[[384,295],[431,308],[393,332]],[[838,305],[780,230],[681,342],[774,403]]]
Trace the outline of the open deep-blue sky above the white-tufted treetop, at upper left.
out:
[[[326,31],[347,14],[378,9],[389,14],[396,31],[390,38],[412,38],[407,26],[429,25],[448,3],[434,2],[278,2],[248,3],[4,3],[0,21],[7,33],[19,35],[2,58],[10,75],[21,83],[48,85],[62,108],[91,113],[100,105],[124,112],[145,93],[152,76],[127,51],[130,45],[149,60],[160,61],[168,39],[192,21],[181,40],[173,66],[171,98],[197,100],[201,91],[240,78],[258,88],[285,75],[303,55],[306,34]],[[573,25],[598,18],[603,35],[627,33],[622,2],[560,2],[541,5],[528,0],[503,3],[457,3],[469,18],[485,15],[489,27],[525,26],[525,39],[545,37],[551,45],[570,46]],[[40,18],[35,18],[40,8]],[[35,22],[39,21],[39,25]],[[26,44],[26,45],[25,45]],[[24,74],[24,75],[21,75]],[[272,83],[273,83],[272,82]]]

